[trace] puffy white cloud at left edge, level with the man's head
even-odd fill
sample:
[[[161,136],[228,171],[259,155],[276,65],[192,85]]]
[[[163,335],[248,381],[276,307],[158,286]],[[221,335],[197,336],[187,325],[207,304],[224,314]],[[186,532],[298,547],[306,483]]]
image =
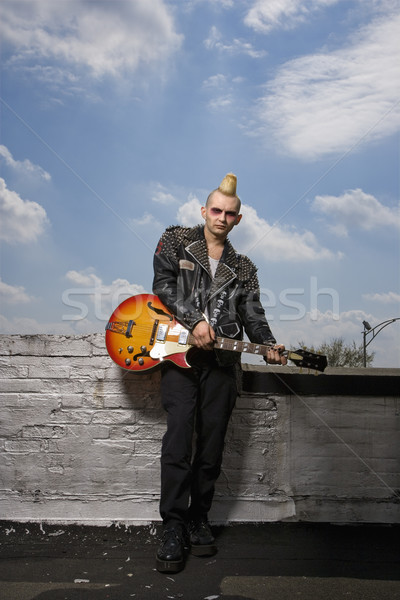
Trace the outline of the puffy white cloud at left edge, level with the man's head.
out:
[[[23,200],[9,190],[0,177],[0,239],[9,243],[34,242],[48,223],[46,211],[37,202]]]

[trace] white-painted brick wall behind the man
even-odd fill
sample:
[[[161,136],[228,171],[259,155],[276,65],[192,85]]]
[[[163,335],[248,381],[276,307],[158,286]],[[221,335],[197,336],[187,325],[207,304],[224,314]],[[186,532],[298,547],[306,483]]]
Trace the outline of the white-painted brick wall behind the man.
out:
[[[214,522],[400,522],[400,370],[249,367]],[[159,372],[102,335],[0,336],[0,520],[159,520]]]

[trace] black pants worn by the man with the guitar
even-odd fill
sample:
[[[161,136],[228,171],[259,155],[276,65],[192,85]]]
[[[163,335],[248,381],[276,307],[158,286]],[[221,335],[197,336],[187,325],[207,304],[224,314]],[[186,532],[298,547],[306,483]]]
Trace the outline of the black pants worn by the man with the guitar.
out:
[[[203,353],[190,369],[171,363],[163,367],[167,431],[161,452],[160,514],[164,524],[176,524],[206,517],[211,508],[237,396],[236,368],[218,366],[213,352]]]

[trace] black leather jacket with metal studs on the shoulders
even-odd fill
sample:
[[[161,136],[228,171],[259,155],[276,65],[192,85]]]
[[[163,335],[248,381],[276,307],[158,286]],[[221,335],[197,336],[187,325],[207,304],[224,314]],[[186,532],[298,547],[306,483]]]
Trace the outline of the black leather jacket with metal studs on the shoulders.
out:
[[[260,302],[257,269],[229,240],[215,277],[210,271],[204,227],[173,226],[162,235],[154,255],[153,293],[192,331],[205,315],[218,336],[275,344]],[[218,362],[234,364],[240,353],[215,350]]]

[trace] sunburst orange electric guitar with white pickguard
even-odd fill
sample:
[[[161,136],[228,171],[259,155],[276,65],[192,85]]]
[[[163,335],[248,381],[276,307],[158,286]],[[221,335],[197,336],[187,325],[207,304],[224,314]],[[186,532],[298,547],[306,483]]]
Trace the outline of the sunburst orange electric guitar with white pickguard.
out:
[[[191,333],[152,294],[132,296],[112,313],[106,325],[106,347],[112,360],[129,371],[147,371],[170,360],[189,368],[187,354],[194,347]],[[217,337],[214,348],[266,356],[271,346]],[[299,349],[285,350],[287,358],[300,367],[323,372],[326,356]]]

